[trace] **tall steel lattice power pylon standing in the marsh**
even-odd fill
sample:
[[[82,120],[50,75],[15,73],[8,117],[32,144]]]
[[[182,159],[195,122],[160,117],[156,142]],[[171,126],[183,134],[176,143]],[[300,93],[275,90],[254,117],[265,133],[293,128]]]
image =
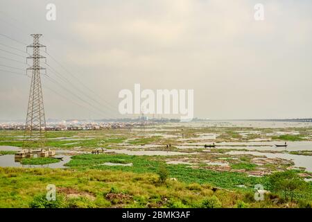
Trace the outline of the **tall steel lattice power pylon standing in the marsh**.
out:
[[[28,99],[28,110],[25,124],[23,148],[44,148],[46,144],[46,119],[44,117],[44,104],[42,97],[42,86],[40,69],[40,48],[45,47],[39,43],[42,34],[32,34],[33,44],[27,46],[33,48],[33,55],[27,59],[33,59],[33,66],[27,68],[32,70],[31,89]]]

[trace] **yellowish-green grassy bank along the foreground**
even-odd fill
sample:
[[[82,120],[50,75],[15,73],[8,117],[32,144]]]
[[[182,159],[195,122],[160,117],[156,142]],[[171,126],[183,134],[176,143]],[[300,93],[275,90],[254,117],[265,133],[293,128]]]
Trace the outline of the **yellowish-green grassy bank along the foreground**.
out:
[[[56,200],[46,200],[46,186]],[[214,189],[205,183],[166,180],[156,173],[90,169],[0,168],[0,207],[285,207],[276,195],[254,200],[254,191]],[[293,207],[311,206],[311,198]]]

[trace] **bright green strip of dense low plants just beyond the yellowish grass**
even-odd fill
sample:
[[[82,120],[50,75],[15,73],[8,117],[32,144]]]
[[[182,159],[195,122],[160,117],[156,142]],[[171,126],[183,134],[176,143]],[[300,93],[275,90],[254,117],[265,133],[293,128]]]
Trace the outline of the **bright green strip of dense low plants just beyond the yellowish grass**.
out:
[[[157,173],[159,167],[164,164],[164,157],[135,156],[123,154],[83,154],[75,155],[69,163],[68,167],[83,169],[101,169],[101,170],[117,170],[131,171],[135,173]],[[132,163],[132,167],[123,166],[107,166],[102,165],[105,162],[114,163]],[[180,181],[199,184],[210,183],[217,187],[225,187],[229,189],[237,189],[237,185],[245,185],[252,188],[258,183],[263,183],[263,178],[248,177],[245,173],[236,172],[219,172],[205,168],[193,169],[185,164],[167,164],[166,169],[171,178],[177,178]]]

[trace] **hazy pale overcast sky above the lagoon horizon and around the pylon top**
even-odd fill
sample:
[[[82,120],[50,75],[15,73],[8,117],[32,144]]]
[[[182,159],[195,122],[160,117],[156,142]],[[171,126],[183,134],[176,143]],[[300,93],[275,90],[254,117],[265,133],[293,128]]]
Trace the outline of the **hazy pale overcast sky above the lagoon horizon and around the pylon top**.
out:
[[[55,21],[46,20],[48,3]],[[254,19],[256,3],[263,21]],[[47,119],[121,117],[118,93],[135,83],[194,89],[201,118],[312,117],[312,1],[1,0],[0,11],[0,33],[27,44],[42,33],[58,61],[48,56],[48,64],[71,82],[49,69],[63,87],[42,77]],[[0,35],[11,52],[0,57],[24,62],[26,46],[14,40]],[[0,58],[0,69],[23,73],[20,62]],[[0,71],[0,119],[26,118],[30,81]]]

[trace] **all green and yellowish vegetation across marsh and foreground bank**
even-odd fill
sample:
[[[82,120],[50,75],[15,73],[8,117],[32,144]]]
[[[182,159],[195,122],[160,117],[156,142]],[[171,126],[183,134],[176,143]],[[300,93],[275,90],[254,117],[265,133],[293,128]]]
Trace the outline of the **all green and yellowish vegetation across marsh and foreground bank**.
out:
[[[168,131],[166,131],[168,129]],[[92,151],[94,148],[127,149],[147,151],[182,151],[187,155],[175,156],[139,156],[114,153],[98,155],[73,155],[67,163],[67,169],[22,169],[0,167],[0,207],[311,207],[312,182],[305,182],[312,173],[284,171],[293,166],[290,161],[281,159],[254,160],[252,155],[229,155],[232,148],[201,148],[200,133],[219,135],[218,142],[244,142],[248,139],[279,139],[282,141],[309,140],[311,128],[258,129],[261,135],[239,132],[256,131],[254,128],[222,127],[164,127],[142,135],[140,130],[104,129],[49,131],[48,145],[73,151]],[[299,135],[272,136],[266,133],[299,132]],[[153,132],[153,131],[150,131]],[[174,135],[189,140],[158,136],[158,133]],[[1,130],[0,145],[21,146],[23,132],[19,130]],[[273,134],[274,135],[274,134]],[[302,139],[306,137],[307,139]],[[311,139],[310,139],[311,140]],[[193,144],[191,144],[193,142]],[[123,144],[121,144],[123,143]],[[188,143],[190,148],[178,147]],[[154,144],[156,146],[143,146]],[[172,144],[166,148],[166,144]],[[141,146],[142,145],[142,146]],[[158,147],[159,145],[159,147]],[[74,147],[78,148],[73,149]],[[194,148],[193,146],[197,146]],[[135,147],[135,148],[133,148]],[[209,150],[209,152],[208,152]],[[240,149],[248,151],[249,148]],[[15,151],[0,151],[0,154],[14,154]],[[287,153],[285,151],[285,153]],[[295,155],[311,155],[310,151],[289,151]],[[184,160],[185,159],[185,160]],[[166,164],[168,161],[183,161],[191,164]],[[21,164],[50,164],[60,160],[42,157],[25,158]],[[104,163],[128,164],[104,165]],[[207,162],[224,162],[223,165],[209,165]],[[132,164],[130,164],[132,163]],[[254,164],[257,163],[257,164]],[[258,167],[259,164],[259,167]],[[229,167],[229,166],[230,167]],[[40,167],[40,166],[37,166]],[[263,174],[257,174],[263,173]],[[250,176],[250,175],[254,176]],[[46,185],[57,188],[57,200],[45,198]],[[270,190],[263,201],[254,200],[254,185],[261,184]]]

